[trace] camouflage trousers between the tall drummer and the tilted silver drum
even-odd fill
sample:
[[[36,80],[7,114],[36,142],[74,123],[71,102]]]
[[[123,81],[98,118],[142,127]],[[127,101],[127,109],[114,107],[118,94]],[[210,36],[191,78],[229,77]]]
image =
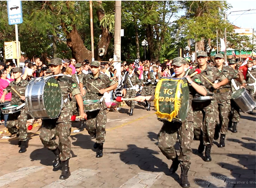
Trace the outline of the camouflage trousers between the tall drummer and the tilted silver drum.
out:
[[[230,100],[223,101],[218,103],[218,110],[219,110],[219,119],[220,119],[220,134],[228,134],[228,121],[229,121],[229,114],[231,111],[231,104]]]

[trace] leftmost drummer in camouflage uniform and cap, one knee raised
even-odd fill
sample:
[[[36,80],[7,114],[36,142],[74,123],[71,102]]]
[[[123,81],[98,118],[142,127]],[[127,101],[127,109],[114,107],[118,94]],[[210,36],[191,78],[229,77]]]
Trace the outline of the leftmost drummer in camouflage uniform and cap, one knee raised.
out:
[[[3,95],[1,97],[1,102],[4,102],[4,97],[7,93],[12,92],[12,99],[10,105],[21,105],[25,103],[25,90],[28,84],[28,81],[23,80],[21,78],[22,68],[14,67],[11,72],[14,76],[14,81],[10,82],[9,86],[7,86],[3,91]],[[15,93],[11,88],[17,90],[21,98]],[[12,134],[17,134],[19,137],[19,145],[20,150],[19,153],[26,152],[27,147],[27,120],[28,120],[28,106],[25,105],[20,109],[20,112],[9,114],[7,120],[7,128],[8,131]]]

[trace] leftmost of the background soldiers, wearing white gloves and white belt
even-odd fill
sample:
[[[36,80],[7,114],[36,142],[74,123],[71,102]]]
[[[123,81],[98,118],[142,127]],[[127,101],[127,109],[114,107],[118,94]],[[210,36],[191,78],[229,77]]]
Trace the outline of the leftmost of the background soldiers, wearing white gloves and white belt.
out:
[[[124,83],[126,84],[126,94],[125,98],[134,98],[136,97],[136,90],[140,87],[140,80],[139,77],[132,73],[133,67],[128,67],[128,75]],[[133,109],[135,107],[135,101],[134,100],[125,100],[125,103],[130,106],[130,116],[133,115]]]

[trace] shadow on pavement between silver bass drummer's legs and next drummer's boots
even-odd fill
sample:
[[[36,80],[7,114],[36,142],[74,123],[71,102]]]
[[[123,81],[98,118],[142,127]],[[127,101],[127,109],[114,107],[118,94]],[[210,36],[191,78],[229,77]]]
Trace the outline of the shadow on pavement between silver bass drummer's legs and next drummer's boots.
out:
[[[79,134],[76,134],[76,135],[70,135],[70,138],[71,138],[71,142],[73,140],[76,140],[75,142],[72,142],[72,145],[79,146],[82,149],[92,149],[92,151],[96,151],[93,148],[93,144],[95,142],[93,142],[91,140],[90,135],[84,135],[84,134],[79,133]]]

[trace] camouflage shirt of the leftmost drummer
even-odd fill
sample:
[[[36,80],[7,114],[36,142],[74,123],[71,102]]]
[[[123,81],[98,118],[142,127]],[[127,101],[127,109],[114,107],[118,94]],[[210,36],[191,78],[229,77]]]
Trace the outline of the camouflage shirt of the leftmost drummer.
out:
[[[7,93],[11,92],[12,93],[12,99],[11,99],[11,103],[10,105],[21,105],[23,104],[25,101],[22,101],[20,99],[20,97],[17,95],[17,93],[15,93],[11,87],[13,87],[15,90],[18,91],[18,93],[20,93],[21,96],[25,96],[25,90],[26,90],[26,86],[28,85],[28,81],[23,80],[21,78],[20,82],[15,82],[15,80],[13,80],[12,82],[10,82],[10,84],[3,90],[6,91]],[[22,107],[21,109],[21,113],[28,113],[28,108],[27,105],[25,105],[24,107]]]

